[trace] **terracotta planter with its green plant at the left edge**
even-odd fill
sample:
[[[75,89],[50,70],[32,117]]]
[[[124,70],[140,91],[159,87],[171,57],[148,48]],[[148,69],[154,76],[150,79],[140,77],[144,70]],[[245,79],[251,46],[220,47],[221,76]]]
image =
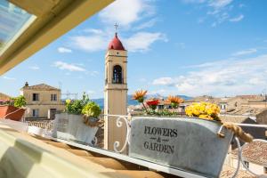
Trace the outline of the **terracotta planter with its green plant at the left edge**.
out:
[[[10,100],[0,101],[0,118],[7,118],[20,121],[26,109],[26,99],[24,96],[11,98]]]

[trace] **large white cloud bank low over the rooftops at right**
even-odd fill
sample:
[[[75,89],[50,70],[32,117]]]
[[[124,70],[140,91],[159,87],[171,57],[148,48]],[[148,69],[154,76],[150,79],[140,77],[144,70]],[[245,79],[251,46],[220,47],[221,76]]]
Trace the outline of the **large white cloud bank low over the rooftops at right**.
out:
[[[212,67],[205,67],[211,64]],[[183,76],[156,78],[153,84],[173,87],[177,93],[191,96],[260,93],[267,85],[267,55],[246,60],[214,61],[198,66],[202,67]]]

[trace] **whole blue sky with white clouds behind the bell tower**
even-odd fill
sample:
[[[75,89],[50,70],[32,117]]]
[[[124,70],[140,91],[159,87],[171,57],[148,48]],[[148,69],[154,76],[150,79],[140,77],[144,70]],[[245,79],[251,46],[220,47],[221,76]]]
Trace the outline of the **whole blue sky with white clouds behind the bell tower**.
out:
[[[117,0],[0,77],[2,93],[46,83],[103,97],[104,56],[119,24],[129,94],[231,96],[267,88],[267,1]]]

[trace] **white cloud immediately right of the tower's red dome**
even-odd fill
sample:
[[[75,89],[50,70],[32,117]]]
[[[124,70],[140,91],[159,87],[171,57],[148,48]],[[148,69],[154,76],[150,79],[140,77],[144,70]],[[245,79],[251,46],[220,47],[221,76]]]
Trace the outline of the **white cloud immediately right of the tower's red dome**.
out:
[[[125,46],[130,52],[144,52],[150,49],[150,45],[156,41],[167,41],[162,33],[138,32],[134,36],[125,39]]]

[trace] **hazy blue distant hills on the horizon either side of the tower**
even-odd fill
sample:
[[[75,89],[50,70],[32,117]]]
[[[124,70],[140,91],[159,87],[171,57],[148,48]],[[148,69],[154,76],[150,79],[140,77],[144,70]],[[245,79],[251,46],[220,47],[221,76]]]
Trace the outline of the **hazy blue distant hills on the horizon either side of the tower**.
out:
[[[192,97],[190,96],[186,96],[186,95],[177,95],[179,97],[181,97],[183,100],[190,100],[192,99]],[[137,105],[138,101],[134,101],[132,99],[133,95],[128,95],[128,105]],[[149,94],[147,95],[147,98],[164,98],[166,99],[166,96],[161,96],[160,94]],[[95,101],[98,105],[100,105],[101,109],[104,108],[104,99],[103,98],[99,98],[99,99],[92,99],[92,101]]]

